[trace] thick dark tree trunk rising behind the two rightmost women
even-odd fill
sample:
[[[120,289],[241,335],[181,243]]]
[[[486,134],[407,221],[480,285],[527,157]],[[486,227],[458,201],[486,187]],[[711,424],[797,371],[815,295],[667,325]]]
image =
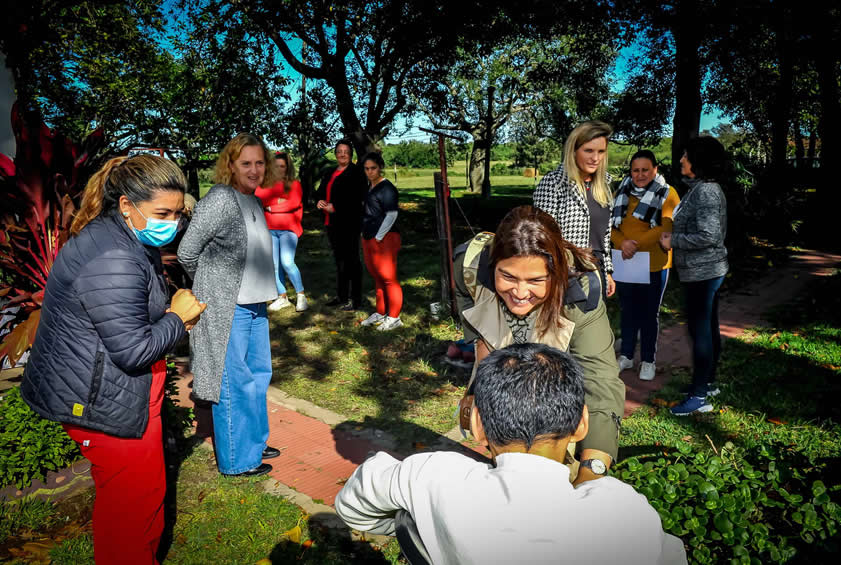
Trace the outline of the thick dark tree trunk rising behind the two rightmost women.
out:
[[[680,178],[686,142],[698,137],[701,125],[701,46],[697,1],[678,4],[672,26],[675,38],[675,118],[672,133],[672,175]]]

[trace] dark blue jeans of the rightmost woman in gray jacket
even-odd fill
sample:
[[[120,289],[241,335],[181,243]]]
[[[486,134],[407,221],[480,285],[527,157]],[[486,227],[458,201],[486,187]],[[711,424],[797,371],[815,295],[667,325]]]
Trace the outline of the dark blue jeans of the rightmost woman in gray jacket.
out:
[[[683,283],[686,314],[692,337],[691,396],[706,396],[715,380],[721,358],[721,329],[718,325],[718,295],[724,277]]]

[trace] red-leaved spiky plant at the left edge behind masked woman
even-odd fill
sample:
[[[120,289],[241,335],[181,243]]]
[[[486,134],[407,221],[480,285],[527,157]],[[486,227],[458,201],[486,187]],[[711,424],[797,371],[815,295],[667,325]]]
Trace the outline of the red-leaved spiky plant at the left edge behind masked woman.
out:
[[[47,277],[104,135],[98,129],[74,144],[43,122],[27,123],[17,104],[12,130],[14,161],[0,153],[0,362],[14,366],[35,339]]]

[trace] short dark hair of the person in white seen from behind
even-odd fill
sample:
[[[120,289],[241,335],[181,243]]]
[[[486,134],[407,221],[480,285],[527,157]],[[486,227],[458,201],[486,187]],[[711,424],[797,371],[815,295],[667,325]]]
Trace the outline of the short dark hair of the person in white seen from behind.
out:
[[[479,363],[473,388],[493,445],[571,436],[584,410],[581,367],[568,353],[539,343],[497,349]]]

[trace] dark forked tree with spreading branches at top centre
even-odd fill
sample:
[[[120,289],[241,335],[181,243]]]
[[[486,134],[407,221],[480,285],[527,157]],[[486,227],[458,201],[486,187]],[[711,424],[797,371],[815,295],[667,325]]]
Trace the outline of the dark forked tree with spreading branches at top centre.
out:
[[[414,111],[408,93],[443,76],[459,47],[494,33],[496,0],[211,1],[224,22],[246,14],[301,75],[333,91],[345,135],[360,154],[373,149],[394,119]],[[464,14],[471,14],[464,18]],[[307,60],[293,46],[307,45]]]

